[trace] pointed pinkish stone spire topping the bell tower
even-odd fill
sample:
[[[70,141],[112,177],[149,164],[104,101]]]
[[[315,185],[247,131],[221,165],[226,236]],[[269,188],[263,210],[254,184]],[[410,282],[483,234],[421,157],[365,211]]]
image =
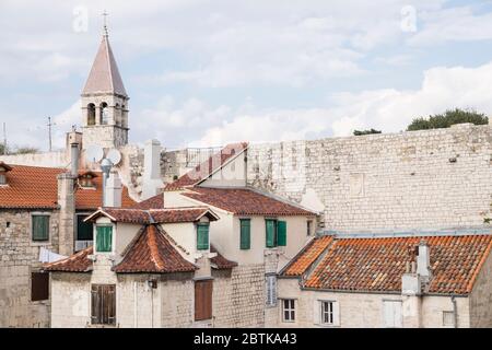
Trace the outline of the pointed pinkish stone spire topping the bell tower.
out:
[[[116,65],[109,45],[106,25],[99,49],[82,91],[82,95],[93,94],[116,94],[127,96],[121,75],[119,75],[118,66]]]

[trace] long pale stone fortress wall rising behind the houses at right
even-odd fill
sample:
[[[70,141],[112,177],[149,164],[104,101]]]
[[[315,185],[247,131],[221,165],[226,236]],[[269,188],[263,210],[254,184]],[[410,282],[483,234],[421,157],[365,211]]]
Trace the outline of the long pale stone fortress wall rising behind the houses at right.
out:
[[[325,230],[480,226],[492,202],[492,128],[251,144],[248,183],[321,209]]]

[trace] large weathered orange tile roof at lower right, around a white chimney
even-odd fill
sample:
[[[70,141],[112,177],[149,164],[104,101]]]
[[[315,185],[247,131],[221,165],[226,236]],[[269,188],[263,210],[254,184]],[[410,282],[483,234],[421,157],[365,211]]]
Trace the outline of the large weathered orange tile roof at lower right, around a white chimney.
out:
[[[470,293],[489,256],[492,235],[336,238],[308,276],[305,287],[400,292],[401,276],[406,262],[410,261],[408,252],[421,240],[430,247],[432,279],[429,293]]]

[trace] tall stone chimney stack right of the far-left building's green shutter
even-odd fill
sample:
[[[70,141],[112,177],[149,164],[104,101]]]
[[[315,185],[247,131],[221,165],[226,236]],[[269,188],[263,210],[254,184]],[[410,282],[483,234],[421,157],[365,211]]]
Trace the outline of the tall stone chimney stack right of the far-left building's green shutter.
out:
[[[75,176],[71,173],[58,175],[58,206],[60,208],[58,253],[61,255],[73,254],[75,192],[73,190]]]

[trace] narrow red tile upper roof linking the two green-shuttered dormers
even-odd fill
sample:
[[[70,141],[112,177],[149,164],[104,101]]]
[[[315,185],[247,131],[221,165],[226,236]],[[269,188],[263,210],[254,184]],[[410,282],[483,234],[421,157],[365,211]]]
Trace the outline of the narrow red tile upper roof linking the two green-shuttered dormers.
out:
[[[215,221],[216,217],[207,207],[187,207],[187,208],[166,208],[166,209],[125,209],[125,208],[101,208],[92,213],[86,220],[93,221],[99,217],[108,217],[116,222],[128,223],[177,223],[177,222],[195,222],[207,215],[210,220]]]

